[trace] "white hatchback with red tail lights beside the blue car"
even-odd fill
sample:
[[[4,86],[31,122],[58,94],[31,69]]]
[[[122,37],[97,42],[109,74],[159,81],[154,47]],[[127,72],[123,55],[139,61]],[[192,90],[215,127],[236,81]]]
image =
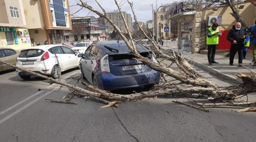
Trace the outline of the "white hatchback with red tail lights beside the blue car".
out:
[[[39,45],[20,51],[16,66],[49,75],[52,78],[59,78],[60,72],[79,67],[80,60],[77,52],[64,45]],[[31,77],[30,73],[16,71],[24,80]]]

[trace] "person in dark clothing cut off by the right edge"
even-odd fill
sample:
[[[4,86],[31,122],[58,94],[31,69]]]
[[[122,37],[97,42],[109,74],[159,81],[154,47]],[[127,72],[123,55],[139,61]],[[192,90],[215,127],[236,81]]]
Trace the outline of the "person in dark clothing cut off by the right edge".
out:
[[[256,20],[249,29],[250,32],[250,47],[253,50],[253,66],[256,66]]]

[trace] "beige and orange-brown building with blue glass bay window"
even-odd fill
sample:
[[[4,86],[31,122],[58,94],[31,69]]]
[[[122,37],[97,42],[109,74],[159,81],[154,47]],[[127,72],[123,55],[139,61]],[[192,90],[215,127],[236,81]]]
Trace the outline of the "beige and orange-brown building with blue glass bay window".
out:
[[[72,30],[68,0],[22,1],[31,42],[58,44],[65,40],[64,30]]]

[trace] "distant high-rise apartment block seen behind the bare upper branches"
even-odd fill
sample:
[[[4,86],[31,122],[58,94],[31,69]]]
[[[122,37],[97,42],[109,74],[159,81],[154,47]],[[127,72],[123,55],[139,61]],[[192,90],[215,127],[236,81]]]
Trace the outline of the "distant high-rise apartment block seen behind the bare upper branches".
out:
[[[122,12],[123,16],[125,17],[126,23],[129,27],[129,30],[132,30],[132,20],[131,20],[131,14],[127,14],[126,12]],[[121,13],[119,11],[113,11],[113,12],[108,12],[108,16],[110,19],[113,20],[114,24],[123,32],[127,33],[127,30],[125,28],[125,23],[123,22]],[[110,32],[114,31],[114,27],[105,20],[106,27]]]

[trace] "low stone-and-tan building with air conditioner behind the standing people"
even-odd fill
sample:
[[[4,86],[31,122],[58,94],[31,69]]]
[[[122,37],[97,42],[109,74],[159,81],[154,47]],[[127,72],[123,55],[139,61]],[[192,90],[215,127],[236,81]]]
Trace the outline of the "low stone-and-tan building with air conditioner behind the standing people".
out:
[[[256,3],[251,1],[235,3],[235,7],[243,20],[245,20],[247,26],[251,26],[255,22],[255,6]],[[226,37],[232,26],[236,24],[236,19],[232,16],[232,13],[228,5],[222,5],[172,14],[170,21],[175,21],[177,24],[179,49],[184,49],[191,53],[199,53],[200,50],[207,49],[206,30],[213,22],[217,22],[220,25],[218,28],[222,32],[217,49],[229,50],[230,42]]]

